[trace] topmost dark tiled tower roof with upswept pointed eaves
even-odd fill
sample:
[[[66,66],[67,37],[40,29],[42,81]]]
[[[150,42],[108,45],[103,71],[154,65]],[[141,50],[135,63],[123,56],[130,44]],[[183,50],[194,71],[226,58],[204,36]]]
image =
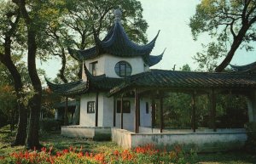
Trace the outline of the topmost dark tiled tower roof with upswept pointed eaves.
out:
[[[96,37],[96,46],[85,50],[68,48],[68,52],[74,59],[79,61],[93,59],[101,54],[112,54],[119,57],[142,56],[145,63],[152,66],[160,62],[163,55],[149,55],[154,48],[159,32],[160,31],[158,31],[156,37],[154,37],[151,42],[148,42],[148,44],[138,45],[129,39],[120,21],[115,20],[107,36],[104,37],[102,41]]]

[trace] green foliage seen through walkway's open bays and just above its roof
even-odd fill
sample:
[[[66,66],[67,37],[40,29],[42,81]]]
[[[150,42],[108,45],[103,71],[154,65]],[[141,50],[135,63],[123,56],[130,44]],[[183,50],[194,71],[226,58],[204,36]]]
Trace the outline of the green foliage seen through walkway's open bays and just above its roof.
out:
[[[181,71],[191,71],[183,65]],[[247,99],[245,96],[217,94],[216,125],[218,128],[244,127],[248,122]],[[169,93],[164,101],[166,128],[192,127],[192,93]],[[210,106],[207,93],[195,96],[195,127],[209,127]],[[157,112],[158,115],[158,112]],[[159,122],[159,116],[157,116]]]

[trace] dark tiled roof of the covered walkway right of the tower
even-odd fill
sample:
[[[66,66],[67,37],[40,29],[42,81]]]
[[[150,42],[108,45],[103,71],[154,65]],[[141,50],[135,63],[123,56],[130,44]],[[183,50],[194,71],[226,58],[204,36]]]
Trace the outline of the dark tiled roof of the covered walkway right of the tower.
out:
[[[110,90],[110,95],[125,88],[256,88],[256,74],[210,73],[150,70],[127,77]]]

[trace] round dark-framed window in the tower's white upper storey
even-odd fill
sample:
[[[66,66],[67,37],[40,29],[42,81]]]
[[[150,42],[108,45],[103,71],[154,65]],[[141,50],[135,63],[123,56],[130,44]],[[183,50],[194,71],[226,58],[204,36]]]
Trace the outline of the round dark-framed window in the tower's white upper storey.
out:
[[[118,76],[130,76],[131,75],[131,65],[126,61],[119,61],[114,66],[114,71]]]

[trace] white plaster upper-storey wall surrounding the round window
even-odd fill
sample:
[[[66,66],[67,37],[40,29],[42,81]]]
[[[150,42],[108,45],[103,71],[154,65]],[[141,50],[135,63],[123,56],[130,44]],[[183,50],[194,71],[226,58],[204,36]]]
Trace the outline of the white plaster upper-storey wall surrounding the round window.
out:
[[[124,57],[116,57],[111,54],[103,54],[96,59],[87,59],[85,60],[85,65],[89,69],[90,63],[98,62],[98,70],[96,75],[106,74],[109,77],[119,77],[115,71],[114,66],[119,61],[126,61],[131,65],[131,75],[135,75],[137,73],[141,73],[143,71],[148,71],[149,67],[144,67],[144,61],[142,57],[132,57],[132,58],[124,58]]]

